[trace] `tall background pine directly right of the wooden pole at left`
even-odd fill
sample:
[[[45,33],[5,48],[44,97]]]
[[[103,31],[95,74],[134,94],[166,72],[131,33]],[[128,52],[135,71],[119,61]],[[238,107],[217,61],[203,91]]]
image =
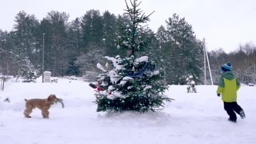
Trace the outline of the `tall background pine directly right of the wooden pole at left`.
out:
[[[45,33],[45,70],[53,75],[68,72],[67,29],[69,14],[51,11],[41,21],[41,32]]]

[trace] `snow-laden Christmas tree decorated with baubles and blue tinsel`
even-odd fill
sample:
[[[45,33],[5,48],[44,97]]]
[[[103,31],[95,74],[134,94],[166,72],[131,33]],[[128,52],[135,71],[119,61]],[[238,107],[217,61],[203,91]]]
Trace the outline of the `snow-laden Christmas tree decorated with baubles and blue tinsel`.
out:
[[[172,99],[164,95],[168,85],[163,83],[163,72],[156,70],[155,62],[148,56],[137,58],[150,43],[144,31],[149,21],[149,15],[142,13],[137,3],[131,1],[131,7],[126,2],[125,15],[129,21],[121,27],[117,35],[117,49],[126,52],[126,56],[108,57],[105,67],[97,64],[102,73],[98,84],[90,84],[97,88],[97,111],[128,111],[146,112],[163,109],[164,101]]]

